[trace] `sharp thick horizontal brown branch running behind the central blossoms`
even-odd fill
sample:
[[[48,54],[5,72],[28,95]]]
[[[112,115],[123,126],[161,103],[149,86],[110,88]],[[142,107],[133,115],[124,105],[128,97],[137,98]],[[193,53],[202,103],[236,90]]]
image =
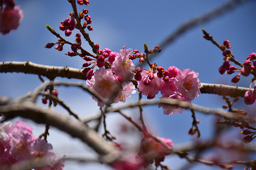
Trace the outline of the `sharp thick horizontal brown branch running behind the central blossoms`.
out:
[[[35,64],[30,61],[26,62],[15,62],[6,61],[0,62],[0,72],[23,72],[25,74],[37,74],[46,76],[47,78],[55,77],[66,77],[75,78],[80,80],[86,80],[86,76],[82,73],[82,70],[77,68],[57,67],[57,66],[46,66],[42,64]],[[249,90],[249,88],[243,88],[238,86],[227,86],[222,84],[206,84],[201,83],[200,91],[201,93],[208,94],[218,94],[226,95],[231,97],[243,97],[244,93]]]

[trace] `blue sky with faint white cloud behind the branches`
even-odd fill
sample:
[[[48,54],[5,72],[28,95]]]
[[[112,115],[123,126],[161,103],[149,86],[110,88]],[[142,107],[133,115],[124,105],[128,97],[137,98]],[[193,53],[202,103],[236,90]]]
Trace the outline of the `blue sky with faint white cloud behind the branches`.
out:
[[[228,1],[214,0],[206,3],[204,0],[91,0],[89,6],[78,5],[78,11],[88,8],[88,14],[92,17],[91,25],[94,27],[94,30],[89,34],[95,43],[100,44],[101,49],[110,48],[112,51],[118,52],[123,46],[127,46],[127,48],[143,51],[144,42],[147,42],[149,48],[153,48],[155,45],[159,45],[182,23],[194,17],[199,17],[225,2]],[[9,34],[0,35],[0,61],[30,60],[38,64],[81,68],[84,62],[81,58],[71,58],[64,55],[64,53],[70,51],[68,45],[64,45],[62,52],[54,48],[44,48],[48,42],[56,42],[58,40],[45,28],[46,24],[49,24],[64,36],[64,32],[60,31],[58,27],[60,26],[60,21],[68,18],[68,14],[72,12],[70,3],[60,0],[16,0],[16,4],[21,5],[24,19],[21,21],[18,30],[12,30]],[[176,66],[180,69],[191,68],[195,72],[199,72],[199,78],[204,83],[234,85],[231,83],[231,79],[235,75],[219,74],[218,68],[223,63],[223,60],[221,60],[222,52],[210,41],[202,38],[201,28],[210,32],[219,44],[222,44],[226,39],[230,40],[232,44],[231,50],[235,58],[243,62],[248,55],[256,52],[255,7],[255,1],[250,0],[218,18],[195,26],[185,34],[182,34],[150,62],[156,62],[158,66],[163,66],[164,68],[169,66]],[[74,42],[74,36],[75,34],[73,33],[67,39]],[[85,49],[90,50],[85,41],[82,41],[82,45]],[[144,65],[144,68],[148,67]],[[240,82],[235,85],[248,87],[251,78],[241,77]],[[57,80],[68,79],[58,78]],[[0,94],[15,98],[34,90],[40,83],[36,75],[2,73],[0,74]],[[81,117],[97,111],[97,104],[91,100],[90,95],[81,93],[76,88],[60,87],[58,90],[59,97]],[[131,100],[137,100],[137,98],[138,96],[134,95]],[[86,102],[84,103],[84,101]],[[220,108],[224,104],[224,100],[221,96],[201,94],[193,103]],[[243,100],[236,103],[234,107],[254,110],[255,112],[255,104],[253,106],[245,106]],[[60,107],[56,107],[56,109],[64,112]],[[174,144],[193,140],[193,137],[188,136],[188,130],[192,124],[190,111],[166,116],[162,113],[162,109],[158,109],[157,106],[148,106],[144,108],[144,116],[147,120],[146,125],[154,126],[154,134],[157,136],[171,138]],[[214,117],[198,112],[196,117],[202,122],[199,125],[202,132],[201,138],[209,138],[214,126],[214,121],[212,121]],[[111,122],[118,118],[120,117],[113,114],[109,117],[109,121]],[[30,124],[32,123],[30,122]],[[42,126],[32,125],[35,126],[34,133],[40,134],[43,132],[44,128]],[[110,127],[116,128],[114,125],[112,124]],[[235,131],[239,133],[240,129],[235,129]],[[60,144],[60,141],[56,138],[59,132],[53,131],[50,134],[49,140],[56,152],[60,155],[67,154],[58,149],[69,140],[63,138],[66,143]],[[70,140],[73,141],[73,139]],[[74,140],[74,142],[78,141]],[[78,148],[76,150],[79,152]],[[179,168],[179,165],[173,164],[171,159],[168,159],[165,163],[170,168]],[[66,166],[66,170],[72,166],[74,165]],[[195,167],[194,169],[196,169]],[[108,169],[105,166],[104,168]],[[241,169],[241,167],[239,168]]]

